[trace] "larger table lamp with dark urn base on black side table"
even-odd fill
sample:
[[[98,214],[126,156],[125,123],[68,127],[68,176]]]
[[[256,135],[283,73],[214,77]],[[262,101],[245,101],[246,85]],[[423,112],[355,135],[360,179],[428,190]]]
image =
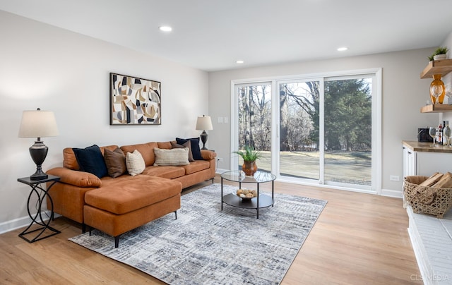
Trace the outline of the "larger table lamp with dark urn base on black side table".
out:
[[[58,135],[57,121],[52,111],[23,111],[20,121],[19,138],[37,138],[35,144],[30,147],[30,156],[36,164],[36,172],[30,176],[31,180],[47,178],[42,171],[42,163],[47,157],[49,147],[44,145],[41,138]]]

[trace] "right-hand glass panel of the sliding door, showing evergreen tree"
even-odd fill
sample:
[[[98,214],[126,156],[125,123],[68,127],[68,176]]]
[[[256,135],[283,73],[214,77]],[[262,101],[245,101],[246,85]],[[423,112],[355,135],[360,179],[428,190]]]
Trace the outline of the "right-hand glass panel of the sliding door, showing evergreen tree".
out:
[[[371,186],[372,80],[325,81],[326,183]]]

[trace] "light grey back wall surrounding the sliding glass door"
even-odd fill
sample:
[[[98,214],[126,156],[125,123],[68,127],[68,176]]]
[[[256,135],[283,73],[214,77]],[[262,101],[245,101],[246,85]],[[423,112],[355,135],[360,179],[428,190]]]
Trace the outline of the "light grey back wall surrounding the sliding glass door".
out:
[[[431,80],[420,79],[434,48],[345,57],[324,61],[287,63],[275,66],[243,68],[209,73],[209,114],[213,128],[220,135],[210,136],[210,145],[222,157],[220,169],[229,169],[230,124],[217,123],[218,116],[230,116],[231,80],[268,78],[271,76],[326,73],[367,68],[383,68],[382,98],[382,192],[402,195],[402,140],[417,140],[417,128],[437,123],[437,114],[421,114],[420,108],[429,99]],[[390,175],[400,181],[389,181]]]

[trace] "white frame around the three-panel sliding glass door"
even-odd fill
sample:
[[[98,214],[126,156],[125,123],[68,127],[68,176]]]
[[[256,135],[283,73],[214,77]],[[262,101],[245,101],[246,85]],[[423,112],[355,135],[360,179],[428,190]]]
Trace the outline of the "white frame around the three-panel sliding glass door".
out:
[[[372,134],[371,134],[371,144],[372,144],[372,154],[371,154],[371,188],[370,190],[367,189],[359,189],[359,188],[352,188],[352,187],[344,187],[344,186],[338,186],[331,183],[324,183],[324,109],[323,109],[323,98],[324,98],[324,90],[323,90],[323,83],[326,80],[334,80],[334,78],[337,79],[343,79],[343,78],[356,78],[357,76],[369,76],[372,77],[372,107],[371,107],[371,120],[372,120]],[[231,123],[231,130],[230,130],[230,169],[231,170],[237,170],[239,160],[237,156],[234,156],[232,152],[234,150],[237,150],[237,144],[238,144],[238,123],[237,123],[237,106],[238,106],[238,99],[236,97],[236,87],[238,85],[244,86],[244,85],[256,85],[256,84],[270,84],[271,86],[271,100],[272,100],[272,131],[271,131],[271,159],[272,159],[272,166],[271,170],[272,173],[276,175],[277,181],[284,181],[284,182],[290,182],[290,183],[297,183],[297,184],[304,184],[304,185],[312,185],[312,186],[319,186],[324,188],[335,188],[340,190],[352,190],[355,192],[362,192],[362,193],[374,193],[381,195],[381,92],[382,92],[382,68],[369,68],[369,69],[362,69],[362,70],[352,70],[352,71],[338,71],[338,72],[328,72],[328,73],[315,73],[315,74],[305,74],[305,75],[288,75],[288,76],[278,76],[278,77],[272,77],[272,78],[257,78],[257,79],[241,79],[241,80],[231,80],[231,116],[230,116],[230,123]],[[279,110],[279,104],[275,104],[274,102],[279,102],[278,98],[278,83],[287,82],[287,81],[299,81],[299,82],[306,82],[306,81],[314,81],[318,80],[320,82],[320,98],[319,103],[321,104],[319,106],[320,108],[320,117],[319,117],[319,152],[320,153],[320,161],[319,161],[319,169],[320,169],[320,175],[319,175],[319,181],[312,180],[312,179],[302,179],[302,178],[291,178],[287,176],[281,176],[280,175],[280,162],[279,162],[279,152],[280,152],[280,110]]]

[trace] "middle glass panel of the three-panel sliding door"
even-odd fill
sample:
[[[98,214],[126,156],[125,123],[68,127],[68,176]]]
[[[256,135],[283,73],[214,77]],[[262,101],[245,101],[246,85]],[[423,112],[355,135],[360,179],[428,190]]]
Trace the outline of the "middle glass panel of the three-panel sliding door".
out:
[[[279,82],[280,167],[282,176],[320,179],[320,82]]]

